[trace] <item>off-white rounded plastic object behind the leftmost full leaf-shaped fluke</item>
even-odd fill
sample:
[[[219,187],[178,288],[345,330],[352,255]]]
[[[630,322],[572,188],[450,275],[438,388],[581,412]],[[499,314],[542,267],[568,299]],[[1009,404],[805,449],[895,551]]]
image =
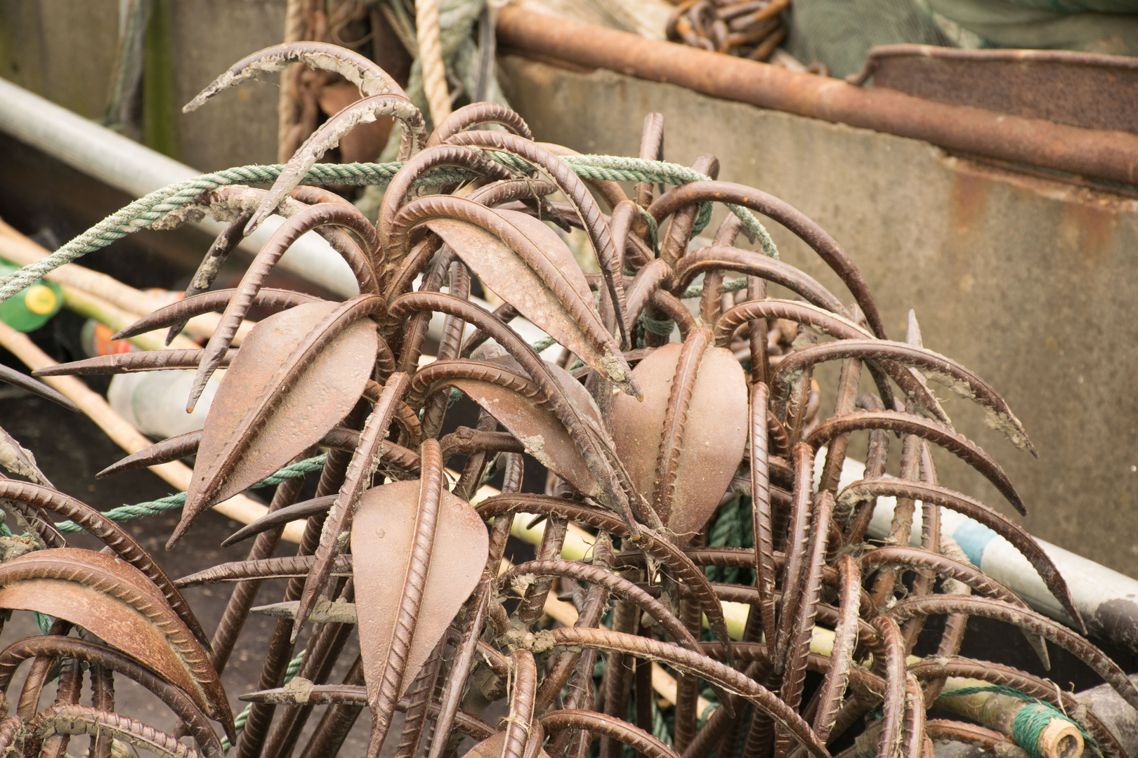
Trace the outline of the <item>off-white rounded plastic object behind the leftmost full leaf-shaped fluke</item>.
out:
[[[107,401],[131,426],[148,436],[166,438],[195,432],[206,423],[209,406],[224,370],[209,377],[192,414],[185,400],[193,385],[192,370],[137,372],[117,374],[110,380]]]

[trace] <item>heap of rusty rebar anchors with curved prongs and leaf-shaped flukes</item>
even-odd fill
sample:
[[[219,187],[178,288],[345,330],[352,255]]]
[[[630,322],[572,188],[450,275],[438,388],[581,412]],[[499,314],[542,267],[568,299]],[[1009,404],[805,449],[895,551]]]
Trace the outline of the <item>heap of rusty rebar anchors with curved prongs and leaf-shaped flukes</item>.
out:
[[[34,659],[15,713],[0,723],[6,751],[58,757],[71,735],[88,734],[100,758],[116,742],[179,758],[230,749],[241,758],[327,757],[364,710],[368,755],[402,723],[399,758],[454,756],[467,735],[479,758],[618,758],[626,749],[649,758],[826,758],[834,745],[851,757],[931,758],[940,740],[1012,745],[998,731],[926,719],[946,680],[968,677],[1065,710],[1104,756],[1125,755],[1071,693],[958,655],[970,616],[998,619],[1022,630],[1045,660],[1047,643],[1070,651],[1138,707],[1138,690],[1107,656],[942,538],[943,509],[995,530],[1082,625],[1054,564],[1020,526],[938,484],[934,447],[1024,513],[1004,470],[953,428],[926,381],[979,403],[1034,452],[1020,422],[981,378],[922,347],[914,318],[906,341],[890,340],[853,261],[817,224],[765,192],[715,181],[710,156],[693,167],[704,178],[657,197],[661,180],[650,169],[671,166],[658,114],[644,120],[638,159],[625,164],[645,177],[633,198],[616,181],[578,176],[570,150],[535,142],[502,106],[460,108],[428,133],[385,72],[328,44],[254,53],[191,106],[296,61],[339,72],[365,97],[323,124],[271,189],[203,192],[156,223],[208,215],[226,228],[183,300],[118,335],[166,326],[176,334],[188,318],[220,311],[206,347],[39,375],[195,368],[192,407],[226,369],[201,432],[108,469],[196,455],[167,548],[212,506],[325,449],[315,499],[297,502],[302,477],[282,482],[269,514],[229,540],[251,538],[247,560],[172,581],[118,524],[34,472],[33,481],[0,481],[0,498],[40,548],[0,565],[0,608],[55,619],[49,633],[0,652],[3,692],[20,661]],[[379,116],[402,128],[402,166],[372,224],[303,181],[344,134]],[[481,128],[488,124],[497,126]],[[731,213],[710,244],[690,250],[711,203]],[[239,286],[212,290],[229,252],[271,214],[286,220]],[[780,260],[754,214],[805,241],[852,303]],[[584,231],[599,274],[582,270],[556,227]],[[348,263],[358,295],[331,301],[263,286],[308,231]],[[759,250],[736,247],[740,234]],[[725,278],[732,272],[742,277]],[[504,305],[489,313],[472,302],[476,278]],[[793,299],[770,297],[770,285]],[[279,310],[234,348],[253,307]],[[428,361],[432,314],[445,324]],[[551,339],[535,349],[511,328],[519,317]],[[554,342],[560,359],[543,360],[538,351]],[[834,413],[819,417],[814,369],[825,361],[840,361],[841,373]],[[863,369],[875,393],[859,393]],[[457,394],[480,416],[443,435]],[[891,449],[897,477],[885,475]],[[848,451],[864,453],[865,470],[843,485]],[[452,473],[455,456],[464,464]],[[545,491],[522,491],[525,461],[550,472]],[[500,492],[476,498],[495,474]],[[896,511],[888,539],[871,542],[879,498],[896,499]],[[58,516],[107,549],[67,547]],[[299,549],[275,555],[296,519],[306,524]],[[542,519],[536,559],[504,561],[511,530]],[[733,544],[717,536],[724,524],[741,535]],[[575,534],[591,548],[566,559]],[[259,685],[240,695],[251,705],[234,719],[220,672],[261,582],[280,577],[288,589],[270,607],[278,620]],[[205,584],[232,588],[212,635],[182,594]],[[550,622],[545,609],[556,602],[572,606],[575,623]],[[729,603],[749,608],[732,630]],[[934,616],[947,616],[935,653],[912,655]],[[337,663],[345,668],[341,653],[356,649],[343,681],[329,682]],[[676,677],[668,703],[652,689],[658,670]],[[91,706],[80,703],[84,672]],[[182,724],[178,733],[116,713],[116,675],[160,698]],[[55,676],[55,702],[41,708]],[[497,723],[484,719],[504,710]]]

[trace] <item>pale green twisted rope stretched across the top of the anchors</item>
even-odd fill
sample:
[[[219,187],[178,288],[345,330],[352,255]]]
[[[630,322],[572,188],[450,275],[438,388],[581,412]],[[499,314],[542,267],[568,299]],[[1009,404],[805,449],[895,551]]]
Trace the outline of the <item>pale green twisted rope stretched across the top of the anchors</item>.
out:
[[[505,165],[518,168],[531,168],[529,164],[505,153],[495,153]],[[687,182],[706,181],[709,177],[679,164],[662,160],[644,160],[641,158],[622,158],[619,156],[566,156],[562,158],[574,173],[583,178],[595,178],[616,182],[663,182],[668,184],[685,184]],[[396,172],[402,168],[399,163],[388,164],[316,164],[304,177],[305,184],[388,184]],[[46,274],[69,264],[89,252],[101,250],[115,240],[121,240],[132,232],[151,226],[165,218],[171,211],[193,202],[203,192],[216,190],[231,184],[265,184],[277,180],[284,166],[238,166],[212,174],[203,174],[192,180],[176,182],[160,190],[155,190],[143,198],[107,216],[101,222],[86,230],[67,244],[33,264],[24,266],[10,276],[0,280],[0,302],[34,284]],[[472,174],[454,168],[437,168],[420,177],[417,185],[439,185],[462,182]],[[766,228],[754,215],[732,203],[725,203],[743,222],[748,233],[759,242],[762,251],[778,257],[778,250]],[[698,234],[711,217],[711,203],[703,203],[692,234]],[[701,225],[702,224],[702,225]]]

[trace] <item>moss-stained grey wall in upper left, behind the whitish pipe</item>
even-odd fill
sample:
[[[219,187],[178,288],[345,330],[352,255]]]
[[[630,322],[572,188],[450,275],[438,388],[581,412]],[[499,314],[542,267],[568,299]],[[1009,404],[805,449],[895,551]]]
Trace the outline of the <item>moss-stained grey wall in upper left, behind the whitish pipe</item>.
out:
[[[102,117],[118,44],[118,0],[0,0],[0,76],[88,118]],[[181,107],[246,55],[280,42],[286,0],[156,0],[141,124],[155,148],[203,172],[277,160],[277,80],[204,108]]]

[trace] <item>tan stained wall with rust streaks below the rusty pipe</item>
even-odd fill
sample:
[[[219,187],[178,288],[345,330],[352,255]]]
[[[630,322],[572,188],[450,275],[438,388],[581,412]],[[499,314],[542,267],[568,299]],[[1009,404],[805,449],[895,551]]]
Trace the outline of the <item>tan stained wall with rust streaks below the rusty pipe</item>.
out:
[[[1023,420],[1039,460],[986,428],[971,403],[937,392],[1015,482],[1031,511],[1024,525],[1138,576],[1138,201],[611,72],[503,65],[537,139],[635,156],[643,116],[655,110],[667,159],[690,165],[711,152],[720,178],[822,224],[861,269],[891,338],[905,339],[916,309],[925,345],[975,370]],[[783,259],[851,300],[803,243],[769,227]],[[835,376],[831,367],[830,388]],[[864,457],[864,442],[851,449]],[[943,484],[1013,513],[950,455],[937,461]]]

